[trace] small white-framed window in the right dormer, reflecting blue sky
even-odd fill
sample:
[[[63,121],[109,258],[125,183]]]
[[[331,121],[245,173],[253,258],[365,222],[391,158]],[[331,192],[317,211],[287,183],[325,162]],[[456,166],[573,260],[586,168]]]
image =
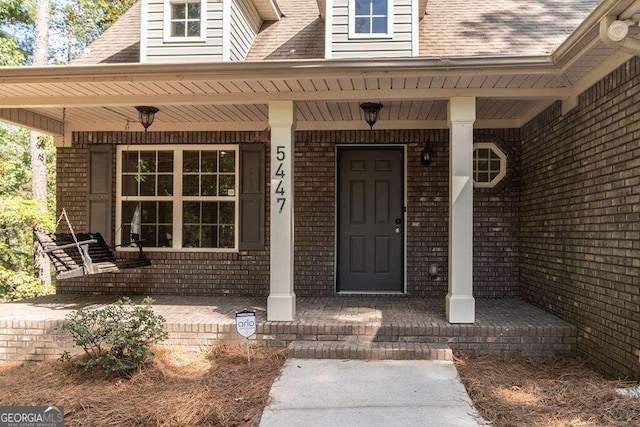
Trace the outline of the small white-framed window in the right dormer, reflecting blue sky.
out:
[[[375,38],[392,35],[393,0],[350,0],[350,37]]]

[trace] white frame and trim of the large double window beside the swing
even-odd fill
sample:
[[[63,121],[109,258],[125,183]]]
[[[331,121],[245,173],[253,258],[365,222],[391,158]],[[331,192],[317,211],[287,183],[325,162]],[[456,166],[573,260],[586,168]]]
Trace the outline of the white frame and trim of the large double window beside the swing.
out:
[[[122,195],[122,153],[124,151],[173,151],[174,162],[174,195],[173,196],[123,196]],[[228,150],[234,151],[236,162],[235,196],[224,196],[226,201],[235,203],[235,226],[234,226],[234,247],[233,248],[182,248],[182,202],[184,200],[195,200],[193,196],[182,195],[182,173],[176,173],[175,165],[180,165],[182,171],[182,153],[184,151],[196,150]],[[173,202],[173,247],[171,248],[147,248],[145,252],[224,252],[237,253],[240,245],[240,146],[233,144],[142,144],[142,145],[119,145],[116,159],[116,245],[122,244],[122,202],[129,201],[172,201]],[[178,190],[178,192],[176,191]],[[220,200],[219,197],[197,197],[199,201]],[[118,251],[133,252],[137,248],[117,247]]]

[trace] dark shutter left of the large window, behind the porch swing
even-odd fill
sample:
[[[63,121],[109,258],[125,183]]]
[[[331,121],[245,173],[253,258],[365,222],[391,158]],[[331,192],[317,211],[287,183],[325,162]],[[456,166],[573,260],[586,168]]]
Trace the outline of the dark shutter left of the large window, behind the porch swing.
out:
[[[100,233],[105,241],[111,239],[111,177],[113,174],[113,147],[109,145],[89,146],[88,212],[87,227],[90,233]]]

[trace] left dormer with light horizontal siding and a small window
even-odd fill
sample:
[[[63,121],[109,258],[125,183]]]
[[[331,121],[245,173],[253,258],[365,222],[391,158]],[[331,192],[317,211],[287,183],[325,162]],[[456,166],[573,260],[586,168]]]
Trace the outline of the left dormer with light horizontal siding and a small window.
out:
[[[244,60],[273,0],[142,0],[140,62]]]

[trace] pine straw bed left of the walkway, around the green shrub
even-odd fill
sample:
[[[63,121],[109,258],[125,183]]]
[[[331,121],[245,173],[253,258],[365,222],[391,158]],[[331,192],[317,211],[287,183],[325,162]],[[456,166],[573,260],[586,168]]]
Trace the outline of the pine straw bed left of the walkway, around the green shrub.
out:
[[[257,426],[283,349],[242,343],[208,354],[155,349],[130,379],[104,378],[73,362],[0,366],[0,405],[64,405],[65,425]]]

